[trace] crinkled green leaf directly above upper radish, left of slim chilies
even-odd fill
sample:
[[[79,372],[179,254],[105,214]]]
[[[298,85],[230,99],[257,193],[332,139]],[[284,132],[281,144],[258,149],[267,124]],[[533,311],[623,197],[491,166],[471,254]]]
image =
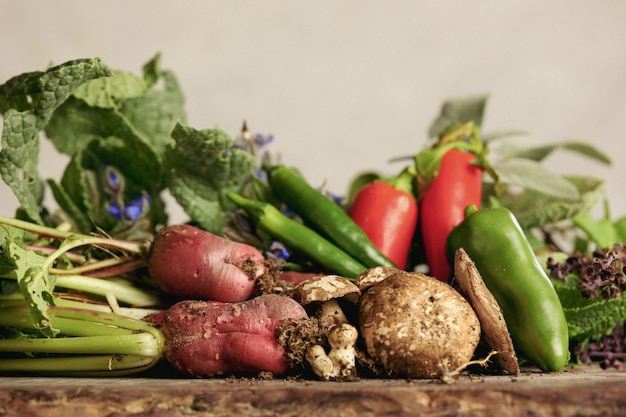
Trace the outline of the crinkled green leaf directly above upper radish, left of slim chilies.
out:
[[[239,192],[254,174],[256,158],[233,147],[219,129],[196,130],[180,123],[166,148],[167,180],[171,194],[199,225],[221,234],[233,203],[226,197]]]

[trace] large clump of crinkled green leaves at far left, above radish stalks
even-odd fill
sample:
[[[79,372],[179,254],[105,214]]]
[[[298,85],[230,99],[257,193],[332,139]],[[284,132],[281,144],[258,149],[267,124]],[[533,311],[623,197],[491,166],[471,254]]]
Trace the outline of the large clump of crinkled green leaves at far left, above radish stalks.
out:
[[[143,75],[136,76],[113,72],[99,59],[76,60],[22,74],[0,86],[0,172],[26,218],[43,223],[39,213],[46,183],[38,174],[43,131],[71,158],[62,180],[49,179],[47,185],[78,231],[124,231],[125,237],[143,238],[155,225],[166,223],[160,195],[166,186],[164,152],[185,112],[176,77],[161,70],[159,61],[157,54],[144,65]],[[108,166],[123,177],[123,195],[111,196],[103,189]],[[112,204],[123,208],[141,195],[151,202],[149,221],[129,225],[110,214]]]

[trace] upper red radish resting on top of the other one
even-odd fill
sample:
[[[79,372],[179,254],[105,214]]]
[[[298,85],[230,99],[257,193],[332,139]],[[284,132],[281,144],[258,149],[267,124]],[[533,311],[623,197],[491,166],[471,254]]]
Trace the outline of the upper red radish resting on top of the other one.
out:
[[[254,295],[267,273],[256,248],[189,225],[162,228],[154,237],[148,272],[165,292],[194,299],[239,302]]]

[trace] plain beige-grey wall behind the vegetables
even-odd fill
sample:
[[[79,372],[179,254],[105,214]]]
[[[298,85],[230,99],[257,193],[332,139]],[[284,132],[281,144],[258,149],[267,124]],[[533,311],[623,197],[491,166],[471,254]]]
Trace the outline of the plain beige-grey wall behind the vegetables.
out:
[[[0,82],[81,57],[139,73],[156,52],[188,122],[273,133],[275,152],[338,193],[356,173],[396,171],[440,104],[489,94],[485,130],[593,142],[605,168],[566,153],[563,173],[607,180],[626,215],[626,2],[0,0]],[[66,160],[43,142],[42,176]],[[0,214],[17,205],[0,184]],[[174,207],[173,220],[184,219]]]

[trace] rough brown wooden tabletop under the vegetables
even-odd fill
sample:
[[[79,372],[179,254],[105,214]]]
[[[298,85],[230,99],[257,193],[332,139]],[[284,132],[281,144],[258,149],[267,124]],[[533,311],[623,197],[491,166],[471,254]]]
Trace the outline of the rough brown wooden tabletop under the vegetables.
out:
[[[573,367],[455,383],[0,378],[0,416],[626,416],[626,372]]]

